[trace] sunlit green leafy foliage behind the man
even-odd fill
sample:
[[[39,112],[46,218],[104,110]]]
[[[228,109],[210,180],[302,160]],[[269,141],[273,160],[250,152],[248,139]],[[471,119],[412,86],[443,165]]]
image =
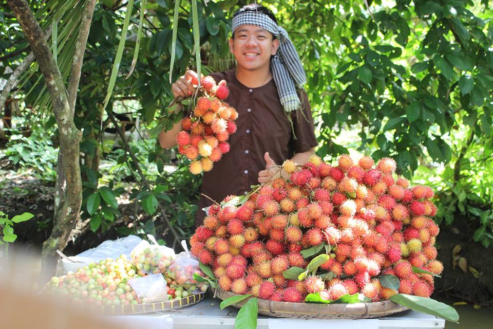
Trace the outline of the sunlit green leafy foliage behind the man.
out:
[[[53,3],[41,7],[42,2],[32,2],[44,26],[53,18],[43,8]],[[414,184],[435,188],[438,222],[451,225],[455,218],[464,216],[471,222],[472,239],[488,247],[493,241],[492,2],[399,0],[368,2],[369,7],[364,1],[259,3],[275,12],[304,63],[306,90],[317,127],[317,153],[326,160],[348,152],[370,154],[375,159],[393,157],[400,174]],[[236,0],[198,3],[205,73],[234,66],[227,48],[231,24],[227,17],[244,4],[247,2]],[[94,12],[75,112],[75,123],[84,136],[81,152],[88,161],[96,153],[102,158],[112,157],[125,168],[122,170],[134,175],[135,163],[127,152],[112,151],[111,145],[101,142],[101,125],[109,124],[101,115],[101,105],[125,12],[132,10],[120,74],[108,107],[140,118],[147,132],[154,133],[132,148],[155,190],[137,189],[132,199],[149,216],[155,215],[158,201],[164,204],[170,209],[173,224],[187,235],[197,211],[193,204],[200,181],[187,173],[186,166],[178,173],[167,173],[164,168],[169,152],[154,141],[161,127],[171,127],[180,119],[167,111],[172,100],[169,68],[174,2],[147,1],[145,9],[140,1],[133,8],[125,5],[104,0]],[[145,16],[139,60],[133,74],[124,79],[134,56],[140,10],[145,10]],[[14,69],[22,61],[27,50],[20,50],[27,42],[5,4],[1,11],[0,77],[7,79],[6,67]],[[71,26],[64,17],[58,21],[60,38],[64,28]],[[172,81],[187,67],[195,66],[190,2],[180,3],[177,24]],[[59,62],[71,58],[69,48],[69,44],[58,46]],[[16,56],[8,57],[16,51]],[[56,126],[43,103],[47,96],[42,93],[43,84],[36,84],[38,78],[26,77],[17,93],[23,95],[32,88],[25,103],[34,107],[23,109],[26,116],[30,111],[31,122],[26,124],[41,119],[39,129],[46,130]],[[354,138],[346,138],[348,135]],[[11,147],[20,142],[11,141]],[[179,161],[186,165],[186,160]],[[32,161],[32,165],[42,163]],[[122,193],[115,174],[121,171],[105,178],[98,166],[89,167],[83,168],[82,216],[91,217],[94,230],[105,230],[119,216],[118,203],[115,205],[113,199]],[[149,224],[147,230],[153,229],[155,226]]]

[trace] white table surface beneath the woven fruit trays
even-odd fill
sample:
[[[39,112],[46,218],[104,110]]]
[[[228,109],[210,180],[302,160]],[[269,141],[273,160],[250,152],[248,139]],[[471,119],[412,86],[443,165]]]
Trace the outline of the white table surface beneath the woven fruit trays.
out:
[[[206,297],[203,301],[195,305],[175,309],[167,313],[142,316],[166,317],[168,320],[169,316],[171,316],[173,318],[173,329],[233,329],[238,309],[232,306],[220,309],[220,302],[219,299]],[[130,324],[129,322],[132,321],[132,317],[134,316],[125,316],[125,322]],[[263,315],[259,315],[257,320],[257,328],[259,329],[301,329],[302,327],[333,329],[443,329],[445,327],[445,320],[412,310],[387,317],[361,320],[288,319]]]

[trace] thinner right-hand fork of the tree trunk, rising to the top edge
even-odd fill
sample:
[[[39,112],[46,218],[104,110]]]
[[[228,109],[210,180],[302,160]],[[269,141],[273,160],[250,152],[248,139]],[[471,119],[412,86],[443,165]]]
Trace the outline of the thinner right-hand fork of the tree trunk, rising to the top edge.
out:
[[[79,82],[81,79],[82,62],[84,60],[84,51],[87,44],[87,36],[89,35],[89,29],[92,22],[92,14],[94,7],[96,6],[96,0],[90,0],[86,2],[86,6],[82,13],[81,27],[79,29],[79,35],[77,36],[77,42],[75,43],[75,50],[73,52],[72,67],[70,69],[70,80],[68,82],[68,104],[70,107],[70,117],[73,117],[75,111],[75,100],[77,99],[77,90],[79,88]]]

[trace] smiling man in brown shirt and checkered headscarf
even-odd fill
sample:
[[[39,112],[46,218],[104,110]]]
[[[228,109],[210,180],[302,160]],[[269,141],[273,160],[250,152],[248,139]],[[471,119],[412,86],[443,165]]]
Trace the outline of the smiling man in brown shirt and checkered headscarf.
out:
[[[229,139],[230,152],[205,172],[202,193],[220,202],[229,194],[246,194],[250,186],[265,182],[278,172],[275,165],[292,159],[298,165],[314,154],[314,134],[310,104],[301,87],[305,71],[285,29],[274,14],[259,5],[248,5],[233,16],[230,51],[235,69],[211,76],[225,80],[230,89],[225,100],[238,111],[237,131]],[[175,97],[188,97],[194,90],[193,71],[187,71],[173,85]],[[159,136],[163,148],[173,147],[176,124]],[[201,197],[196,226],[212,202]]]

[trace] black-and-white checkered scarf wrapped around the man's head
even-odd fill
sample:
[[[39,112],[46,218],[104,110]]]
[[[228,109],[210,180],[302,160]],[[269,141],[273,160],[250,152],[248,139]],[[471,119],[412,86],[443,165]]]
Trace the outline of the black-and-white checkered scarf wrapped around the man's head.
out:
[[[285,111],[295,111],[301,105],[296,87],[301,88],[307,82],[307,76],[298,53],[289,40],[288,32],[278,26],[268,15],[256,11],[243,11],[234,16],[232,32],[235,33],[241,25],[260,26],[274,34],[279,40],[279,49],[271,59],[272,75]]]

